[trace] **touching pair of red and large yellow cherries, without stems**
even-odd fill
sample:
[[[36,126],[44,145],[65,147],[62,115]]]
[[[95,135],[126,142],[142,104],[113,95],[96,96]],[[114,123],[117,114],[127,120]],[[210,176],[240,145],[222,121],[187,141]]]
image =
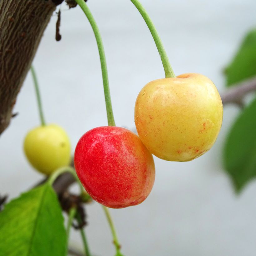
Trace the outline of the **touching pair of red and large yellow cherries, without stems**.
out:
[[[86,191],[111,208],[141,203],[155,166],[151,154],[190,161],[208,151],[219,133],[223,106],[213,82],[199,74],[152,81],[135,104],[138,135],[121,127],[86,132],[75,150],[75,169]]]

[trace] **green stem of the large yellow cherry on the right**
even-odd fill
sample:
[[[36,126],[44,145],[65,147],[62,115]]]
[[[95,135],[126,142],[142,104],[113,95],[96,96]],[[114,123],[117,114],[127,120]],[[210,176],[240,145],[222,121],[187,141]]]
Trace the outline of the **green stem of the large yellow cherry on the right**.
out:
[[[175,74],[174,74],[174,71],[171,67],[171,64],[169,62],[169,59],[168,59],[168,56],[165,52],[165,48],[163,46],[163,43],[161,41],[161,38],[159,37],[157,31],[156,31],[156,28],[155,28],[155,25],[154,23],[152,22],[152,20],[150,19],[148,13],[146,12],[146,10],[144,9],[144,7],[142,6],[142,4],[140,3],[140,1],[138,0],[130,0],[134,5],[135,7],[138,9],[138,11],[140,12],[141,16],[143,17],[143,19],[145,20],[150,32],[151,32],[151,35],[155,41],[155,45],[158,49],[158,52],[160,54],[160,57],[161,57],[161,61],[163,63],[163,66],[164,66],[164,70],[165,70],[165,77],[175,77]]]

